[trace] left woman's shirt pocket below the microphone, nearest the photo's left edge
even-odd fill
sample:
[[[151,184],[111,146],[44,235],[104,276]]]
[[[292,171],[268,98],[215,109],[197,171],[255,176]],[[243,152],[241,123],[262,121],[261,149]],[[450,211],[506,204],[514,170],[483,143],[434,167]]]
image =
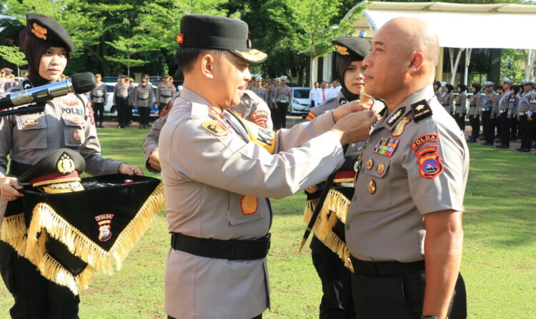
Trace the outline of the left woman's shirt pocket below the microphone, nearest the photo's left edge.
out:
[[[16,117],[18,135],[17,145],[21,150],[47,148],[46,118],[41,114],[28,114]]]

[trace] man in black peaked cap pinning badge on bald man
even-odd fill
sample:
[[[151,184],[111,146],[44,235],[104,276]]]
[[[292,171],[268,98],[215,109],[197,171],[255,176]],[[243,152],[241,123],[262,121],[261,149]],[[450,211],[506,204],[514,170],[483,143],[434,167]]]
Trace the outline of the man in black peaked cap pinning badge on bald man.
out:
[[[266,197],[326,178],[342,163],[342,143],[364,139],[375,116],[349,105],[290,130],[259,128],[228,111],[251,79],[248,64],[266,58],[250,48],[247,24],[187,15],[181,34],[184,88],[159,141],[172,233],[164,310],[169,318],[261,318],[269,307]]]

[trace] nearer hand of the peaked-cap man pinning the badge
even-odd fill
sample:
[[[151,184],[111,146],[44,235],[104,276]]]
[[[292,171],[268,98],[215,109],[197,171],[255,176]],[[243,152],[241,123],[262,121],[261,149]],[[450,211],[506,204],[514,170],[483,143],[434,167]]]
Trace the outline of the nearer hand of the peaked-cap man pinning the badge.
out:
[[[350,113],[341,118],[331,129],[337,134],[341,145],[364,141],[370,132],[370,126],[376,123],[378,118],[372,111]]]

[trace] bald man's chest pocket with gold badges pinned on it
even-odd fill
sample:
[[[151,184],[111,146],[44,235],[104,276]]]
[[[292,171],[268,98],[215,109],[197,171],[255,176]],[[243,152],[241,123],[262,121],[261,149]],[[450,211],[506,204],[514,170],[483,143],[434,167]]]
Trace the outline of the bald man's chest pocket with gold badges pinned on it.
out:
[[[387,172],[390,158],[387,156],[372,156],[363,158],[359,174],[362,177],[355,186],[355,200],[363,206],[374,209],[384,209],[391,206],[391,186]]]

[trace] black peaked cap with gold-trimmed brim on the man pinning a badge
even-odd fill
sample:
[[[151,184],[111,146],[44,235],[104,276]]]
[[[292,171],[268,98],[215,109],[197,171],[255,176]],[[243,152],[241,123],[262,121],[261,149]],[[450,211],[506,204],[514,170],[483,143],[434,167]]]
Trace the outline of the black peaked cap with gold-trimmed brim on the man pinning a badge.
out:
[[[182,48],[229,50],[251,63],[260,63],[267,54],[252,49],[248,26],[242,20],[207,14],[188,14],[181,19],[177,43]]]

